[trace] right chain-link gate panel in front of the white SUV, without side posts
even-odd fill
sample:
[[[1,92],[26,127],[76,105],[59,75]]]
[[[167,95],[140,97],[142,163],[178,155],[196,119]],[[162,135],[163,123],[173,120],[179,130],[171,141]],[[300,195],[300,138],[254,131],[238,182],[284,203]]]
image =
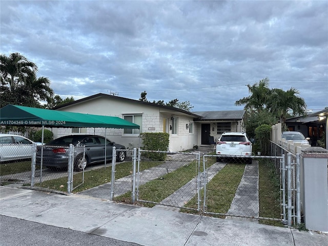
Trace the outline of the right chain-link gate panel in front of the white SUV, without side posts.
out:
[[[205,165],[209,157],[217,156],[204,155]],[[204,167],[205,214],[251,221],[282,220],[280,175],[275,170],[275,161],[281,157],[226,156],[218,160],[212,167]]]

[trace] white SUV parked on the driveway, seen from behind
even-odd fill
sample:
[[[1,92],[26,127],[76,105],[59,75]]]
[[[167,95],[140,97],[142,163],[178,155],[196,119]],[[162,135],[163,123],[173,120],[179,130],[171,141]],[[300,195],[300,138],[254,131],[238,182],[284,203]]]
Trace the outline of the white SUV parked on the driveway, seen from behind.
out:
[[[248,139],[246,133],[224,132],[216,144],[216,157],[220,161],[225,155],[252,155],[252,142]],[[222,157],[221,157],[222,156]],[[252,163],[252,158],[245,158],[247,163]]]

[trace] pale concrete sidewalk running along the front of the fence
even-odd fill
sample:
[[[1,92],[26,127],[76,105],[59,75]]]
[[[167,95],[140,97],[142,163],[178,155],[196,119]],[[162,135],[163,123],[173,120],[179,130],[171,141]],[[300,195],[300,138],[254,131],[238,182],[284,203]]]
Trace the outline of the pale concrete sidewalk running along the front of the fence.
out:
[[[0,187],[0,214],[141,245],[328,245],[328,236],[119,204],[82,195]]]

